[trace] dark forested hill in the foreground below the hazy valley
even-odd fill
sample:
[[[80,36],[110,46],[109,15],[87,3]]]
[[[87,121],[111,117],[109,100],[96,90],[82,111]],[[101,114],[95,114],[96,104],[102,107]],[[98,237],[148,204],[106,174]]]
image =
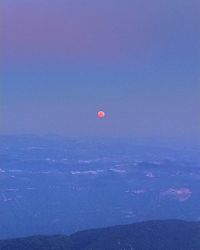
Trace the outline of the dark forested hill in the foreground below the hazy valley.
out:
[[[2,240],[0,250],[200,250],[200,223],[148,221],[71,236]]]

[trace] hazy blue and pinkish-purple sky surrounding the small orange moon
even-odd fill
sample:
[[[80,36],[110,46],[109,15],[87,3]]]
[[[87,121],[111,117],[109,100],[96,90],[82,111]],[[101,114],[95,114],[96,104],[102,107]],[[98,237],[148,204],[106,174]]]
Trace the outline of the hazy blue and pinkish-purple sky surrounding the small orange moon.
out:
[[[199,7],[198,0],[2,0],[0,134],[193,140]]]

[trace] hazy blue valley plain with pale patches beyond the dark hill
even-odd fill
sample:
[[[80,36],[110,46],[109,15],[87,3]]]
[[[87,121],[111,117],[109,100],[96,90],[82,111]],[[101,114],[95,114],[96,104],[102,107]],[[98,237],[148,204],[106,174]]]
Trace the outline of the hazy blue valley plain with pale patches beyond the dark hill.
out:
[[[0,237],[200,219],[198,149],[0,137]]]

